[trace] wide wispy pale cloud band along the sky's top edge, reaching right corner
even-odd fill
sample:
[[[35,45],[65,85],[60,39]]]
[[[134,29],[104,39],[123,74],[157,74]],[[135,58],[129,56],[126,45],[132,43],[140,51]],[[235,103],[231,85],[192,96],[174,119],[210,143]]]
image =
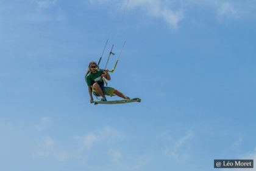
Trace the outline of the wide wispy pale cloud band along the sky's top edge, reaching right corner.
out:
[[[126,0],[87,0],[94,5],[109,5],[112,4],[116,7],[113,9],[124,8]],[[179,29],[180,22],[183,21],[188,13],[193,10],[205,9],[205,13],[216,15],[216,19],[220,22],[228,20],[240,19],[242,16],[254,15],[255,7],[252,7],[256,1],[229,1],[229,0],[187,0],[187,1],[174,1],[174,0],[129,0],[128,10],[133,11],[139,9],[144,15],[150,18],[162,19],[172,29]],[[139,13],[138,13],[139,14]],[[196,16],[189,17],[191,21],[195,22]]]

